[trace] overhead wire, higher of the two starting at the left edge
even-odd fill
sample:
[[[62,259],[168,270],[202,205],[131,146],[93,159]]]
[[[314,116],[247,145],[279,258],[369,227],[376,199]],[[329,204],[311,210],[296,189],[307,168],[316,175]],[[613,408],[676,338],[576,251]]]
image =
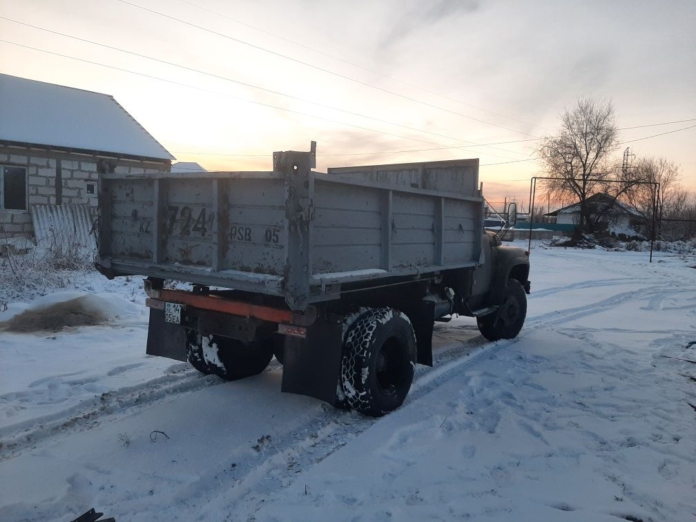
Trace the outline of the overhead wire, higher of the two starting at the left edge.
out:
[[[305,102],[305,103],[308,103],[308,104],[313,104],[313,105],[316,105],[316,106],[320,106],[320,107],[322,107],[322,108],[324,108],[324,109],[331,109],[331,110],[333,110],[333,111],[339,111],[339,112],[342,112],[342,113],[351,114],[352,116],[358,116],[358,117],[360,117],[360,118],[366,118],[366,119],[368,119],[368,120],[373,120],[373,121],[377,121],[377,122],[381,122],[381,123],[386,123],[387,125],[394,125],[395,127],[401,127],[401,128],[403,128],[403,129],[408,129],[408,130],[412,130],[412,131],[416,131],[416,132],[422,132],[422,133],[424,133],[424,134],[431,134],[432,136],[438,136],[438,137],[441,137],[441,138],[451,139],[451,140],[454,140],[454,141],[463,141],[463,142],[465,142],[465,143],[468,143],[470,146],[485,146],[485,147],[489,147],[489,146],[490,146],[490,145],[479,145],[478,143],[475,143],[475,142],[470,141],[470,140],[465,140],[465,139],[461,139],[461,138],[455,138],[454,136],[448,136],[447,134],[440,134],[440,133],[438,133],[438,132],[432,132],[432,131],[428,131],[428,130],[425,130],[425,129],[419,129],[418,127],[410,127],[409,125],[402,125],[401,123],[391,122],[391,121],[389,121],[389,120],[383,120],[383,119],[381,119],[381,118],[376,118],[376,117],[374,117],[374,116],[367,116],[367,115],[365,115],[365,114],[357,113],[357,112],[354,112],[354,111],[349,111],[349,110],[347,110],[347,109],[341,109],[340,107],[336,107],[336,106],[331,106],[331,105],[328,105],[328,104],[323,104],[323,103],[315,102],[315,101],[313,101],[313,100],[308,100],[307,98],[303,98],[303,97],[299,97],[299,96],[294,96],[294,95],[286,94],[286,93],[280,92],[280,91],[278,91],[278,90],[273,90],[273,89],[269,89],[269,88],[265,88],[265,87],[261,87],[261,86],[256,86],[256,85],[253,85],[253,84],[248,84],[248,83],[246,83],[245,81],[240,81],[240,80],[232,79],[232,78],[229,78],[229,77],[224,77],[224,76],[221,76],[220,74],[214,74],[214,73],[212,73],[212,72],[207,72],[207,71],[204,71],[204,70],[200,70],[200,69],[196,69],[196,68],[191,68],[191,67],[188,67],[187,65],[181,65],[180,63],[175,63],[175,62],[171,62],[171,61],[166,61],[166,60],[161,59],[161,58],[155,58],[155,56],[149,56],[149,55],[147,55],[147,54],[141,54],[141,53],[137,53],[137,52],[134,52],[134,51],[129,51],[129,50],[127,50],[127,49],[121,49],[120,47],[115,47],[115,46],[113,46],[113,45],[108,45],[108,44],[104,44],[104,43],[100,43],[100,42],[95,42],[94,40],[88,40],[88,39],[86,39],[86,38],[80,38],[79,36],[75,36],[75,35],[70,35],[70,34],[66,34],[66,33],[61,33],[60,31],[54,31],[54,30],[52,30],[52,29],[47,29],[47,28],[45,28],[45,27],[41,27],[41,26],[36,26],[36,25],[33,25],[33,24],[29,24],[29,23],[27,23],[27,22],[20,22],[19,20],[15,20],[15,19],[12,19],[12,18],[0,16],[0,19],[7,20],[8,22],[13,22],[13,23],[15,23],[15,24],[19,24],[19,25],[22,25],[22,26],[31,27],[32,29],[37,29],[38,31],[43,31],[43,32],[45,32],[45,33],[51,33],[51,34],[54,34],[54,35],[58,35],[58,36],[61,36],[61,37],[63,37],[63,38],[70,38],[70,39],[72,39],[72,40],[77,40],[77,41],[79,41],[79,42],[85,42],[85,43],[88,43],[88,44],[90,44],[90,45],[96,45],[96,46],[98,46],[98,47],[103,47],[104,49],[111,49],[112,51],[117,51],[117,52],[121,52],[121,53],[124,53],[124,54],[129,54],[130,56],[137,56],[137,57],[139,57],[139,58],[145,58],[146,60],[155,61],[155,62],[157,62],[157,63],[164,63],[165,65],[170,65],[171,67],[176,67],[176,68],[180,68],[180,69],[183,69],[183,70],[187,70],[187,71],[191,71],[191,72],[196,72],[196,73],[198,73],[198,74],[205,74],[205,75],[208,76],[208,77],[212,77],[212,78],[216,78],[216,79],[221,79],[221,80],[224,80],[224,81],[230,81],[230,82],[232,82],[232,83],[234,83],[234,84],[242,85],[242,86],[245,86],[245,87],[254,88],[254,89],[258,89],[258,90],[263,90],[264,92],[267,92],[267,93],[271,93],[271,94],[274,94],[274,95],[287,97],[287,98],[290,98],[290,99],[292,99],[292,100],[298,100],[298,101],[300,101],[300,102]],[[511,141],[511,142],[509,142],[509,143],[519,143],[519,142],[522,142],[522,141],[527,141],[527,140]],[[497,148],[497,147],[492,147],[492,146],[491,146],[491,148],[496,149],[496,150],[501,150],[501,151],[503,151],[503,152],[511,152],[511,153],[513,153],[513,154],[523,154],[523,152],[517,152],[516,150],[509,150],[509,149]]]

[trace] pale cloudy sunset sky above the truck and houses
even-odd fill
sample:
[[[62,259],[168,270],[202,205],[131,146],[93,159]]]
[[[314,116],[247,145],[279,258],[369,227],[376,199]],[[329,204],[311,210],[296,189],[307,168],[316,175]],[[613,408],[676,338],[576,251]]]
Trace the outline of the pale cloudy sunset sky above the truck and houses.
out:
[[[695,26],[694,0],[0,0],[0,72],[109,93],[209,170],[311,140],[318,170],[478,157],[487,198],[526,207],[535,139],[588,95],[617,157],[696,191]]]

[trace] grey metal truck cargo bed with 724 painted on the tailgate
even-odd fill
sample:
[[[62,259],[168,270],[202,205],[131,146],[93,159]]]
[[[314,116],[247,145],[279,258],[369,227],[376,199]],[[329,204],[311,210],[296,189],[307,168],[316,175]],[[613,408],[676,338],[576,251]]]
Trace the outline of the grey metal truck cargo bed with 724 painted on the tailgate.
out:
[[[272,296],[292,310],[345,283],[473,267],[478,160],[311,170],[103,175],[97,266]]]

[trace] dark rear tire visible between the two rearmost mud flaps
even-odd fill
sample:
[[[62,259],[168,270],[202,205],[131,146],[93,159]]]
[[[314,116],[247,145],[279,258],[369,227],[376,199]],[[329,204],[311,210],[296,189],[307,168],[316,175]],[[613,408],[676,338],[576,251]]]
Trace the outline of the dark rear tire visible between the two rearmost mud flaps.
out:
[[[226,381],[260,374],[273,358],[272,340],[242,342],[221,335],[206,335],[202,340],[210,371]]]

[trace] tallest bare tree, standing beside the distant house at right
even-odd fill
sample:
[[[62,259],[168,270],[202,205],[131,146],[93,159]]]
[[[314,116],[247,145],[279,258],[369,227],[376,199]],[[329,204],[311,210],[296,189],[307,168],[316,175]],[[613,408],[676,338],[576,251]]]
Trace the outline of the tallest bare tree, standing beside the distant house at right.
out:
[[[606,181],[620,179],[611,153],[617,147],[618,131],[611,100],[580,98],[561,116],[556,136],[546,136],[539,156],[546,173],[546,190],[556,199],[572,198],[580,203],[580,230],[592,227],[587,198],[606,190]],[[620,169],[619,169],[620,173]],[[616,196],[627,189],[619,189]]]

